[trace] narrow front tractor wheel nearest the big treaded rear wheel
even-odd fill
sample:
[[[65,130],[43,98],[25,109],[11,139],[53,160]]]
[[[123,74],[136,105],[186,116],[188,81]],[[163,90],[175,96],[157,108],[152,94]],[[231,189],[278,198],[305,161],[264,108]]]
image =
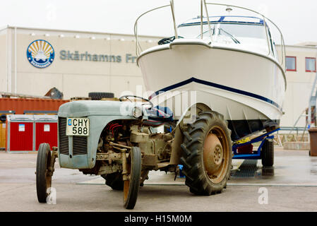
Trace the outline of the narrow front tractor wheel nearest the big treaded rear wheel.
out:
[[[133,209],[138,198],[141,177],[141,151],[132,147],[127,160],[128,180],[124,181],[124,207]]]

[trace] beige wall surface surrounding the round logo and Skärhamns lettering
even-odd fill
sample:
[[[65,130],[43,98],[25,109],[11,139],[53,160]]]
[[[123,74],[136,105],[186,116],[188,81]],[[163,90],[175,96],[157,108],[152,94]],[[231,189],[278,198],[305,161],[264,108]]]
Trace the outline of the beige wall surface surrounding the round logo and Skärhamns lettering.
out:
[[[143,46],[153,45],[146,42],[153,40],[153,37],[142,39]],[[32,66],[26,57],[28,45],[34,40],[46,40],[54,48],[54,61],[47,68],[38,69]],[[64,99],[69,99],[88,97],[90,92],[110,92],[115,96],[120,96],[126,90],[136,93],[137,85],[145,90],[142,74],[136,65],[134,40],[132,35],[18,28],[16,93],[44,95],[49,89],[56,87],[64,93]],[[157,42],[159,39],[154,40]],[[14,35],[12,43],[14,46]],[[86,52],[90,57],[80,56]],[[79,54],[79,60],[74,57],[76,53]],[[93,54],[97,54],[98,61],[94,61]],[[106,58],[99,59],[100,54],[107,55],[108,61]],[[12,62],[14,61],[13,56]],[[12,65],[12,92],[15,92],[14,69]]]

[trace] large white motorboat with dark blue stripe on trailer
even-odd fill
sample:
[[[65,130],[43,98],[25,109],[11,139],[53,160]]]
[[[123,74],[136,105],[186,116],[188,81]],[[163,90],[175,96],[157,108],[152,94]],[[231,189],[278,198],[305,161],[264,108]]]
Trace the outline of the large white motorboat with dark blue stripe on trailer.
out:
[[[257,16],[209,16],[208,5]],[[159,8],[169,6],[174,19],[173,1]],[[279,126],[286,89],[285,49],[280,33],[279,57],[270,26],[280,29],[271,20],[239,6],[201,1],[201,16],[178,26],[173,20],[174,37],[145,51],[140,49],[137,23],[138,66],[145,88],[153,91],[152,102],[171,108],[177,119],[186,106],[179,110],[175,103],[183,102],[179,101],[183,93],[194,92],[196,103],[225,117],[232,141]]]

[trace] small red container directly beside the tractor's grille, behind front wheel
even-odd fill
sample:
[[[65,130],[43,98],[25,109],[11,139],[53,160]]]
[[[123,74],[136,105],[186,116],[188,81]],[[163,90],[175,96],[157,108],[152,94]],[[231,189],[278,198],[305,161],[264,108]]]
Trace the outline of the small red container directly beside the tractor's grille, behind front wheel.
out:
[[[49,146],[57,147],[57,116],[35,115],[35,150],[41,143],[49,143]]]

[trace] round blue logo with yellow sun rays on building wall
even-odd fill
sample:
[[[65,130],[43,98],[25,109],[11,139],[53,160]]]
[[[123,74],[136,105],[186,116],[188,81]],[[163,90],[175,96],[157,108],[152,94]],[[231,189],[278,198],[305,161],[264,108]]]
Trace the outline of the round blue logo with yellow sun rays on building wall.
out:
[[[54,61],[55,52],[52,44],[45,40],[35,40],[29,44],[26,50],[28,61],[33,66],[44,69]]]

